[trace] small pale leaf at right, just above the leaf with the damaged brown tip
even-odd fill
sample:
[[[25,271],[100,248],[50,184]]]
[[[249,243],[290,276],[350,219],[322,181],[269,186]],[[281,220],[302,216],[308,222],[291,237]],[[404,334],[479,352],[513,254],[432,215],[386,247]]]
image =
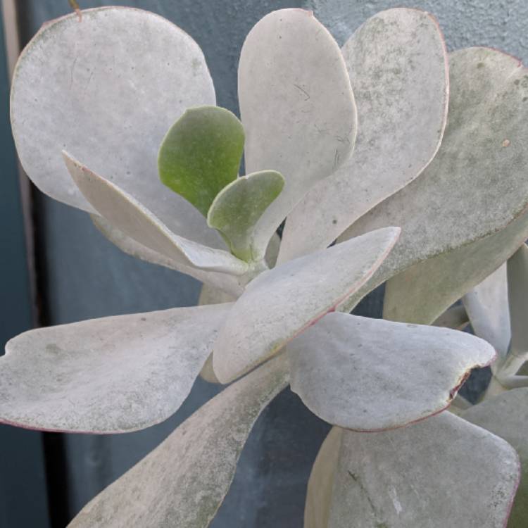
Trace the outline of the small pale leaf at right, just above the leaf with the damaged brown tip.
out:
[[[462,301],[474,333],[491,343],[501,356],[505,356],[511,336],[506,265],[501,265],[477,284],[463,296]]]

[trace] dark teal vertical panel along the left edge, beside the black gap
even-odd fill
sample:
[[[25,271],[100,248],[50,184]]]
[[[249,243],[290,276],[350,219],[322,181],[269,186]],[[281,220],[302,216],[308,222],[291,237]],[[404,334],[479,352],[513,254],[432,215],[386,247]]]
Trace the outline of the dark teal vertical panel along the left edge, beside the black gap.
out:
[[[0,353],[8,339],[32,327],[2,17],[0,12]],[[42,434],[0,425],[0,527],[48,526]]]

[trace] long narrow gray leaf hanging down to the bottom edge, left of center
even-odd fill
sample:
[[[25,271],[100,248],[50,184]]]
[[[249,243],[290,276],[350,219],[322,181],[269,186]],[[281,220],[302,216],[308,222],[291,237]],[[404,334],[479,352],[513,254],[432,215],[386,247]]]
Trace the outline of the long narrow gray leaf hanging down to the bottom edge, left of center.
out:
[[[227,387],[88,503],[70,528],[208,527],[253,423],[287,382],[280,357]]]

